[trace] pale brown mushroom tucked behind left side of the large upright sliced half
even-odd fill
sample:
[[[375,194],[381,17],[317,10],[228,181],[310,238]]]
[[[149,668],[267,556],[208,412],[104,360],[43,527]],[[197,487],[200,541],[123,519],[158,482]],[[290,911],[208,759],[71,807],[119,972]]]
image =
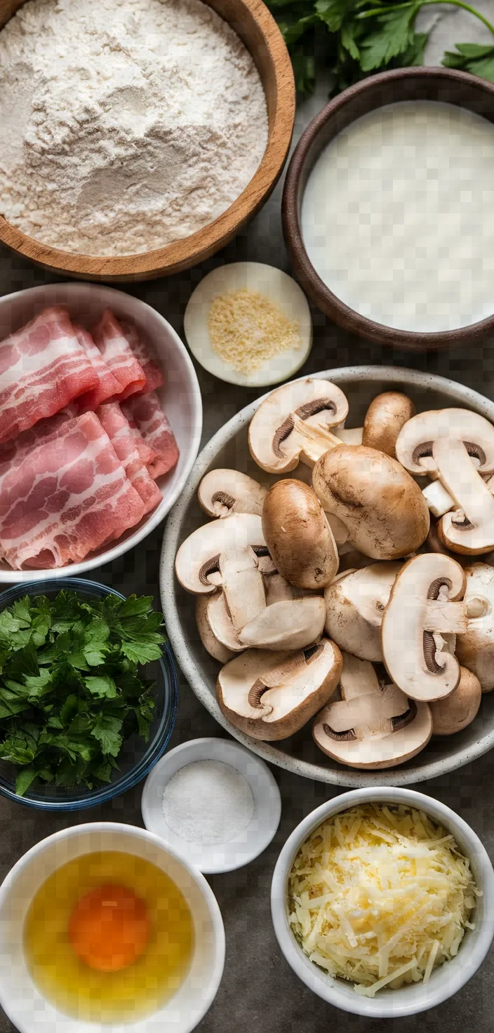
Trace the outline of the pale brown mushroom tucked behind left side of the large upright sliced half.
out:
[[[325,591],[326,633],[361,660],[382,661],[380,625],[400,563],[373,563]]]

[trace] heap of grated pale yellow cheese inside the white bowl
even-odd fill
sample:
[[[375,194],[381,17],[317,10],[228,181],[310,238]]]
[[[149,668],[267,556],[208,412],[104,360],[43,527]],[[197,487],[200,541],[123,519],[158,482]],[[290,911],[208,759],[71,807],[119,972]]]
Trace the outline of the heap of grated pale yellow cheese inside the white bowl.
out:
[[[482,896],[453,836],[411,807],[334,815],[300,848],[288,877],[302,949],[358,994],[427,982],[458,952]]]

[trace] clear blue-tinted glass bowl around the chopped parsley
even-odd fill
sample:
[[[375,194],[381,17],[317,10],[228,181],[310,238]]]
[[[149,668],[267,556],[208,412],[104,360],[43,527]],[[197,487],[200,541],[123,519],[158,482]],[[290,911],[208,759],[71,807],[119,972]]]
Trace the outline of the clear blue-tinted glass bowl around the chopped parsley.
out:
[[[47,595],[49,598],[54,598],[62,589],[76,592],[85,599],[102,599],[105,595],[116,595],[119,599],[125,599],[120,592],[105,585],[98,585],[96,582],[82,581],[79,577],[51,578],[17,585],[2,592],[0,613],[25,595],[32,597]],[[145,743],[137,734],[125,740],[118,757],[119,769],[114,772],[112,782],[94,789],[87,789],[86,786],[65,789],[51,783],[39,784],[28,789],[24,796],[18,796],[16,775],[19,769],[0,760],[0,793],[26,807],[35,807],[42,811],[81,811],[85,807],[104,804],[141,782],[163,755],[177,716],[179,683],[174,654],[167,643],[163,646],[162,658],[157,663],[147,664],[145,672],[147,678],[152,678],[156,682],[153,690],[154,720],[149,741]]]

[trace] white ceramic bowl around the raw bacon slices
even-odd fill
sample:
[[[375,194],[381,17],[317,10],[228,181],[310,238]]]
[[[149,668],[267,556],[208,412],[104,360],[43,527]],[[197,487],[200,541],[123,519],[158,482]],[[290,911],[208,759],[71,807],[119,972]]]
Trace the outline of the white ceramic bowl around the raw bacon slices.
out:
[[[135,528],[130,528],[112,547],[91,553],[82,563],[47,570],[12,570],[0,561],[0,583],[33,582],[85,573],[129,552],[166,516],[177,501],[200,444],[203,402],[195,370],[185,345],[163,316],[145,302],[112,287],[91,283],[52,283],[0,299],[0,340],[29,322],[48,305],[63,305],[78,321],[90,327],[105,308],[119,318],[131,320],[154,347],[165,373],[158,392],[180,448],[177,466],[158,480],[163,500]]]

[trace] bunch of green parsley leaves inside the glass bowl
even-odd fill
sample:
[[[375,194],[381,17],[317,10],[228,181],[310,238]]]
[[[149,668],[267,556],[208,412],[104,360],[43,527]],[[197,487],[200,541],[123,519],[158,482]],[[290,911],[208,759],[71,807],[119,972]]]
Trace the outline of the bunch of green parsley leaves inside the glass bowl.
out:
[[[19,769],[17,793],[111,781],[124,740],[149,738],[153,682],[138,667],[164,639],[151,597],[61,591],[0,614],[0,759]]]

